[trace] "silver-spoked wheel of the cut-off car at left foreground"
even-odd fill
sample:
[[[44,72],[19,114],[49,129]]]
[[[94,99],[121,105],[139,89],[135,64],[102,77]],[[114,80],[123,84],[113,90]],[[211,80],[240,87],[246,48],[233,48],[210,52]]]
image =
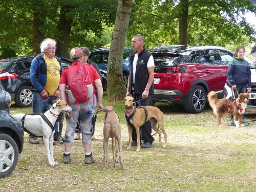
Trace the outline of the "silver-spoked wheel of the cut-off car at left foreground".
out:
[[[0,178],[10,175],[18,162],[18,146],[14,139],[0,133]]]

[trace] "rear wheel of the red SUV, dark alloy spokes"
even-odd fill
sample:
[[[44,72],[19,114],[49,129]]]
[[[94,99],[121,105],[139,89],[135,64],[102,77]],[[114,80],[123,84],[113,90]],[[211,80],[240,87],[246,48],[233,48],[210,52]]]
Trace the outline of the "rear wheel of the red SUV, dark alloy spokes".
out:
[[[206,105],[206,92],[201,86],[195,86],[184,105],[188,113],[201,113]]]

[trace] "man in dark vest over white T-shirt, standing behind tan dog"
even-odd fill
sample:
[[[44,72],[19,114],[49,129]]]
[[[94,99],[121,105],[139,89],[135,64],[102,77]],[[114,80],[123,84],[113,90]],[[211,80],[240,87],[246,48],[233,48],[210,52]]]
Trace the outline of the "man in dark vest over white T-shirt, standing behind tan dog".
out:
[[[131,41],[135,53],[131,54],[130,75],[126,96],[133,96],[136,106],[152,105],[154,94],[154,68],[155,63],[151,53],[144,48],[144,38],[142,35],[134,35]],[[138,102],[136,102],[138,101]],[[140,127],[141,147],[150,148],[155,140],[151,136],[150,121]],[[136,130],[132,130],[132,146],[137,145]]]

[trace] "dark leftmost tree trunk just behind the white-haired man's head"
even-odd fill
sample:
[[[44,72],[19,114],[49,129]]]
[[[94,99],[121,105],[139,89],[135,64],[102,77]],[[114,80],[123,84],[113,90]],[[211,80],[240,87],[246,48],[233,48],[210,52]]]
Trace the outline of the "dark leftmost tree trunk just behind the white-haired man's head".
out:
[[[33,53],[38,54],[41,52],[40,44],[44,40],[45,35],[39,30],[39,27],[42,26],[42,21],[39,18],[38,13],[34,13],[33,19]]]

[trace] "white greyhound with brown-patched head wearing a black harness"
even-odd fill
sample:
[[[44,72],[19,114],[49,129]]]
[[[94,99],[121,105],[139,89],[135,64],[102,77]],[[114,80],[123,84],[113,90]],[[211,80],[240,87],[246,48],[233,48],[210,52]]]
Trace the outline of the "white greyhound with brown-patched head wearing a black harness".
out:
[[[51,106],[51,108],[44,113],[45,117],[49,120],[49,124],[46,122],[47,119],[44,120],[41,115],[33,115],[28,114],[16,114],[13,115],[15,119],[17,119],[20,124],[23,124],[25,129],[37,137],[42,137],[45,142],[46,154],[49,160],[49,164],[54,166],[57,162],[53,159],[53,135],[55,133],[54,123],[57,120],[58,115],[62,111],[71,112],[72,108],[67,104],[66,101],[63,100],[55,100],[55,103]],[[23,118],[25,116],[25,118]],[[51,124],[50,124],[51,123]]]

